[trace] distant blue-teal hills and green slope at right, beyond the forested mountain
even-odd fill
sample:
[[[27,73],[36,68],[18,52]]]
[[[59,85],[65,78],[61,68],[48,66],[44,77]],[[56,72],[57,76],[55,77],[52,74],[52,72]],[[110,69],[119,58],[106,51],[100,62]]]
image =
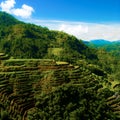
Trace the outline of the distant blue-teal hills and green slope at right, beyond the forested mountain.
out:
[[[91,48],[98,49],[99,65],[111,74],[111,79],[120,80],[120,41],[93,40],[86,43]]]

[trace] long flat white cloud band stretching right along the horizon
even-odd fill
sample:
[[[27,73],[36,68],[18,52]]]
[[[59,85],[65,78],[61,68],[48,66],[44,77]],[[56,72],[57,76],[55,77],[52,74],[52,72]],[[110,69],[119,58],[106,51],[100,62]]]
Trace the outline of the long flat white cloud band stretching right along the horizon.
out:
[[[46,26],[51,30],[64,31],[82,40],[105,39],[120,40],[120,23],[85,23],[56,20],[30,20],[37,25]]]

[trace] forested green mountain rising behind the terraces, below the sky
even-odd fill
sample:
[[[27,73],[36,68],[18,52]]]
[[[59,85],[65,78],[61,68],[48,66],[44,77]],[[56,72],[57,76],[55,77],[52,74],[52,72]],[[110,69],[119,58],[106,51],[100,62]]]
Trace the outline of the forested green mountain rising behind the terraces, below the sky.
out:
[[[72,56],[74,59],[97,58],[92,49],[67,33],[26,24],[7,13],[0,13],[0,20],[0,52],[14,58],[53,58],[65,61],[71,61]]]

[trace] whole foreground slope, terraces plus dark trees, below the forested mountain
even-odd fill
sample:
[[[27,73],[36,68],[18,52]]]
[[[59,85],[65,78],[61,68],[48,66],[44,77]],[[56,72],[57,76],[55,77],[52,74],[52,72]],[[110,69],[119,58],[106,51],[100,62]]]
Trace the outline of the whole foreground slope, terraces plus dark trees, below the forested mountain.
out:
[[[119,93],[110,84],[91,64],[6,58],[0,64],[0,118],[118,120]]]

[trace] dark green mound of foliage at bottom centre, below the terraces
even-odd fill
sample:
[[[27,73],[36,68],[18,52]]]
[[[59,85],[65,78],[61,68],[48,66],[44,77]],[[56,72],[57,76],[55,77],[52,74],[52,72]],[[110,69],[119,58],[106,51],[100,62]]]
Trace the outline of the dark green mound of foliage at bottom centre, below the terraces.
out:
[[[36,118],[45,120],[115,120],[115,115],[103,96],[105,96],[104,92],[100,97],[94,90],[89,91],[84,87],[63,85],[56,91],[39,98],[35,114],[32,113],[35,116],[32,116],[30,120]]]

